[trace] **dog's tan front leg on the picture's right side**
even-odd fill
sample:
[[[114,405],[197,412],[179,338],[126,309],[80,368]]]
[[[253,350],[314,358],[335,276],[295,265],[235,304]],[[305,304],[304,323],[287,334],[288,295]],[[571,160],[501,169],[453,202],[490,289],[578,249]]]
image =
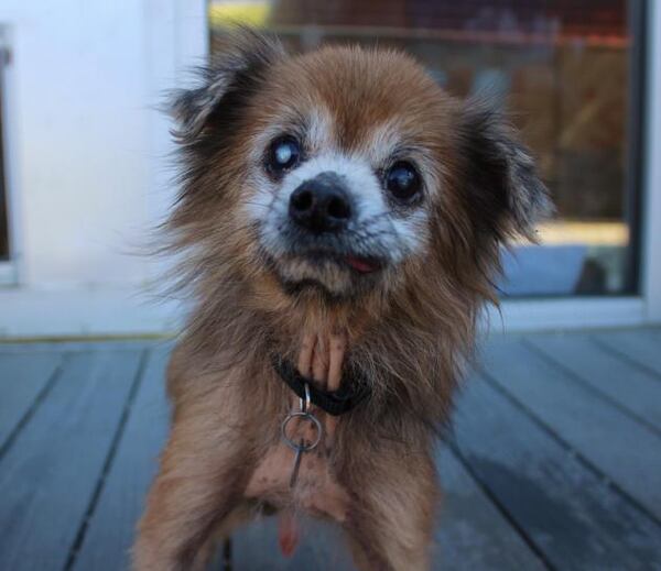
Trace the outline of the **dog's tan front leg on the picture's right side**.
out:
[[[440,490],[431,459],[392,457],[359,470],[344,528],[361,571],[424,571]]]

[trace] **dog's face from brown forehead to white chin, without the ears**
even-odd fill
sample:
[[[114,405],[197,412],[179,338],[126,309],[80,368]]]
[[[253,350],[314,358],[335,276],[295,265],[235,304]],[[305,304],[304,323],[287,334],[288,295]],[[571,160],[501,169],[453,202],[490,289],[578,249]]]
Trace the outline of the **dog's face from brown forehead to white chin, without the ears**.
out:
[[[243,216],[285,290],[355,297],[425,256],[452,160],[447,99],[392,53],[278,66],[251,109]]]

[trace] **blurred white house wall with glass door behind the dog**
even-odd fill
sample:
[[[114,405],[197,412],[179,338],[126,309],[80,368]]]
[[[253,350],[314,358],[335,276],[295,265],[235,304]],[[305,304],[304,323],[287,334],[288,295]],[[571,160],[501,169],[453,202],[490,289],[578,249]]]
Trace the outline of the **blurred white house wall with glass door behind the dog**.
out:
[[[143,295],[162,264],[136,255],[173,193],[156,107],[236,22],[294,52],[405,50],[509,110],[557,216],[505,255],[506,328],[661,319],[652,2],[2,0],[0,334],[176,328],[176,305]]]

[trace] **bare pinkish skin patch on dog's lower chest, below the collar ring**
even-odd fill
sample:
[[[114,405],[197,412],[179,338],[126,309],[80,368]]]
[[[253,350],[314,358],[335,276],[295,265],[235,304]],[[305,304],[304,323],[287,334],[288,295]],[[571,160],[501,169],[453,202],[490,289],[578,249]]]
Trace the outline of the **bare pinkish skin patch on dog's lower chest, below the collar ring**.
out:
[[[349,497],[337,482],[324,447],[303,453],[295,484],[291,486],[294,461],[295,452],[284,443],[270,448],[250,476],[246,496],[278,508],[302,508],[344,521]]]

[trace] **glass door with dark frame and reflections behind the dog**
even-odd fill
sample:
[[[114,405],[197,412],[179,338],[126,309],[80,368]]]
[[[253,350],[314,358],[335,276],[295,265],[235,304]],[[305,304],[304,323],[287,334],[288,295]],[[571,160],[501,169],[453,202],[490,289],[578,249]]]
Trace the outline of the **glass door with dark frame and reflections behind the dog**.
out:
[[[643,9],[641,0],[213,0],[209,22],[212,52],[242,21],[299,51],[395,46],[452,94],[488,89],[557,206],[542,245],[505,253],[502,295],[622,295],[638,287]]]

